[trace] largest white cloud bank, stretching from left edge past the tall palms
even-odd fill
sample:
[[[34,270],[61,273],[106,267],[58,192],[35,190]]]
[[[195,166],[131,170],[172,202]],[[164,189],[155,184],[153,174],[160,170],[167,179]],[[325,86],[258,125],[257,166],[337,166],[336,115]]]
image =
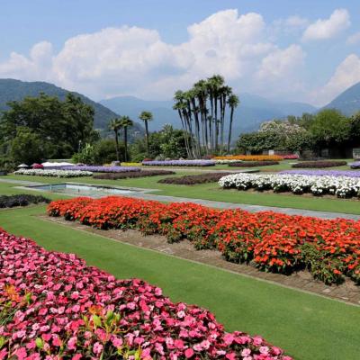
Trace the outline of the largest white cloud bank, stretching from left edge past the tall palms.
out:
[[[293,19],[293,24],[302,23]],[[122,26],[68,39],[57,54],[49,42],[28,57],[13,53],[0,63],[1,77],[46,80],[94,99],[118,94],[169,98],[178,88],[219,73],[238,91],[288,94],[298,81],[301,46],[280,49],[260,14],[225,10],[189,26],[188,40],[166,43],[155,30]],[[291,75],[291,73],[293,73]]]

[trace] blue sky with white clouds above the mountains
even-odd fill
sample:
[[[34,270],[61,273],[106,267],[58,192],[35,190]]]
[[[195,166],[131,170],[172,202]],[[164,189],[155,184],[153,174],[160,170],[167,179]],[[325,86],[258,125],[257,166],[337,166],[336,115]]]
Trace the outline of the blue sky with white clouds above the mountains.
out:
[[[98,101],[238,94],[321,106],[360,82],[359,0],[2,0],[0,78]]]

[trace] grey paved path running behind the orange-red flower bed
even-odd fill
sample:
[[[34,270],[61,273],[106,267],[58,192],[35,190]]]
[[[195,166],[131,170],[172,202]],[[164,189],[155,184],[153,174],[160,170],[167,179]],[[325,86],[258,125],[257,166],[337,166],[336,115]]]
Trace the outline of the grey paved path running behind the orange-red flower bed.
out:
[[[44,185],[42,183],[23,181],[23,180],[13,180],[13,179],[0,179],[2,183],[13,183],[21,186],[34,186],[34,185]],[[70,183],[69,181],[64,180],[64,182]],[[73,184],[81,184],[81,183],[73,183]],[[85,183],[83,183],[85,184]],[[119,187],[120,186],[114,186]],[[127,188],[129,189],[129,187]],[[166,196],[166,195],[158,195],[156,193],[148,193],[148,192],[157,192],[157,189],[141,189],[141,188],[130,188],[130,190],[134,190],[133,193],[124,193],[121,196],[127,196],[137,199],[144,200],[156,200],[157,202],[194,202],[203,206],[208,206],[211,208],[219,208],[219,209],[243,209],[250,212],[257,211],[275,211],[286,213],[288,215],[302,215],[302,216],[313,216],[321,219],[337,219],[337,218],[345,218],[351,220],[360,220],[360,215],[355,214],[346,214],[342,212],[329,212],[329,211],[312,211],[306,209],[293,209],[293,208],[279,208],[273,206],[261,206],[261,205],[249,205],[246,203],[234,203],[234,202],[214,202],[211,200],[202,200],[202,199],[192,199],[187,197],[176,197],[176,196]],[[64,194],[64,193],[62,193]],[[69,196],[78,196],[74,194],[67,194]]]

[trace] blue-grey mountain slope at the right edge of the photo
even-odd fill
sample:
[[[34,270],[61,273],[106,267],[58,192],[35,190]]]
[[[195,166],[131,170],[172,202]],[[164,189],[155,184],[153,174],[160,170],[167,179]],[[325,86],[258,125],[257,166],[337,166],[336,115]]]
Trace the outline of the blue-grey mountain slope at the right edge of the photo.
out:
[[[345,115],[350,116],[360,111],[360,83],[350,86],[339,94],[332,102],[324,106],[326,109],[338,109]]]

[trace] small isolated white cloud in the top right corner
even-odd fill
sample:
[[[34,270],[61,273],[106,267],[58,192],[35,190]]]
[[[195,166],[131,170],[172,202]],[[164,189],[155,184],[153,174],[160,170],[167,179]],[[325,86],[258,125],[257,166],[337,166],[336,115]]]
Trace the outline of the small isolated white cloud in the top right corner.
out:
[[[311,23],[302,34],[303,41],[327,40],[338,35],[350,26],[350,15],[347,9],[335,10],[329,19],[319,19]]]

